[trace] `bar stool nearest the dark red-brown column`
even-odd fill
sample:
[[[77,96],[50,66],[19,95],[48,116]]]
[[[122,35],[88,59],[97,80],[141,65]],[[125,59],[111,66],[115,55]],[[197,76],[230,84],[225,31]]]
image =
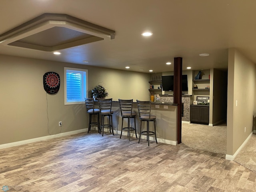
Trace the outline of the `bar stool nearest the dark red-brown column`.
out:
[[[138,112],[140,115],[140,137],[141,137],[141,135],[146,135],[147,141],[148,141],[148,146],[149,146],[149,136],[155,135],[155,138],[156,138],[156,116],[151,114],[151,102],[150,101],[137,100],[137,105],[138,105]],[[141,130],[143,121],[147,122],[147,130],[146,131]],[[154,122],[154,131],[149,130],[149,122],[150,121]],[[138,143],[140,143],[140,137],[139,137]],[[157,143],[157,140],[156,140],[156,143]]]

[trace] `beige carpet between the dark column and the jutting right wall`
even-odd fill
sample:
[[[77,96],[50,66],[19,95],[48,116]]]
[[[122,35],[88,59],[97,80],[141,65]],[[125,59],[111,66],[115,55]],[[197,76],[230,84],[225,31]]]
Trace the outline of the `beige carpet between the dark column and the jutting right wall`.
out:
[[[227,126],[208,126],[182,123],[182,143],[180,146],[226,154]]]

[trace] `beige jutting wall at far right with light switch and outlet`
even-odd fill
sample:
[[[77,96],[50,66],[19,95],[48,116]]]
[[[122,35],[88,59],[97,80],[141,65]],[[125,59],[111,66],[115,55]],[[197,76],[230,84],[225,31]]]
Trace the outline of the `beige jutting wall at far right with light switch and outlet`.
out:
[[[234,155],[252,132],[255,65],[238,50],[228,52],[227,154]],[[237,101],[237,106],[236,106]],[[246,127],[246,132],[244,128]]]

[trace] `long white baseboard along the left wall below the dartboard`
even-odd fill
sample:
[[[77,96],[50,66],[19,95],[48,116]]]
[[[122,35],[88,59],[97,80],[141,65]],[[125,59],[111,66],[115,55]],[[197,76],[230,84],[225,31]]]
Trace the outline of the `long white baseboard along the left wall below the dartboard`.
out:
[[[14,146],[18,146],[18,145],[24,145],[24,144],[48,140],[48,139],[53,139],[53,138],[58,138],[58,137],[63,137],[63,136],[68,136],[68,135],[73,135],[73,134],[78,134],[78,133],[87,132],[87,131],[88,131],[88,128],[64,132],[64,133],[55,134],[55,135],[48,135],[48,136],[44,136],[44,137],[38,137],[38,138],[33,138],[33,139],[28,139],[28,140],[23,140],[23,141],[6,143],[6,144],[0,145],[0,149],[14,147]]]

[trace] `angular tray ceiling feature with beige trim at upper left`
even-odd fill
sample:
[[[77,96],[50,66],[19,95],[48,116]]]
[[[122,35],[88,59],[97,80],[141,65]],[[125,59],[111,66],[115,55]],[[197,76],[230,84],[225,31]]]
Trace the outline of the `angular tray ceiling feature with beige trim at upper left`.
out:
[[[115,31],[67,14],[45,13],[0,35],[0,44],[56,51],[100,40],[112,40]]]

